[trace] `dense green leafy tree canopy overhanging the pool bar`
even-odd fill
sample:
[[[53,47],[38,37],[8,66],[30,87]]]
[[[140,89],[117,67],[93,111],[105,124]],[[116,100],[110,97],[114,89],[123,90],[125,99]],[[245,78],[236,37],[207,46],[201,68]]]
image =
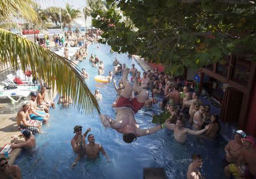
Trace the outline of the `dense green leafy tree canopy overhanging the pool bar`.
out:
[[[115,52],[163,63],[172,74],[182,74],[184,66],[198,68],[216,63],[224,55],[247,53],[255,57],[253,2],[192,2],[108,0],[108,5],[117,5],[122,12],[98,8],[91,15],[94,27],[104,31],[102,43],[108,43]],[[126,25],[124,16],[133,25]]]

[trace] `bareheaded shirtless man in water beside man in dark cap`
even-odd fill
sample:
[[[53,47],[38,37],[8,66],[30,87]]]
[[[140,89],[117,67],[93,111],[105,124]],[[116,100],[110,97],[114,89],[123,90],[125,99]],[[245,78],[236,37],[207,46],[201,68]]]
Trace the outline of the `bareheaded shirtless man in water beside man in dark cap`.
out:
[[[89,141],[89,144],[86,144],[87,158],[95,160],[95,159],[97,159],[97,157],[100,156],[100,152],[101,152],[101,154],[103,154],[106,157],[106,160],[109,162],[108,154],[106,154],[104,148],[100,144],[95,143],[93,134],[88,135],[88,141]]]

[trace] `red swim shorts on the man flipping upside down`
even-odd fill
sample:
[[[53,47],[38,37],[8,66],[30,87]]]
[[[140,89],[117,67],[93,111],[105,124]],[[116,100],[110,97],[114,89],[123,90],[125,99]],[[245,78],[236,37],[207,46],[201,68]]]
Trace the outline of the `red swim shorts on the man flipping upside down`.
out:
[[[138,110],[143,107],[144,103],[141,103],[137,100],[136,97],[130,101],[129,98],[123,97],[120,95],[117,100],[117,108],[127,107],[133,109],[134,113],[136,114]]]

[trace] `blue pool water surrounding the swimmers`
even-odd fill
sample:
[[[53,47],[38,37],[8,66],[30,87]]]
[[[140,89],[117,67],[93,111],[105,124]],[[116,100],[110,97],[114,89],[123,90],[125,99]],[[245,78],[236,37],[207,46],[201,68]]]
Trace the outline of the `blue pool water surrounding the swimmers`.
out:
[[[99,48],[97,48],[97,46]],[[126,54],[109,53],[109,47],[100,44],[89,46],[90,54],[97,54],[104,61],[105,75],[112,70],[112,62],[117,57],[121,63],[131,67],[135,63],[140,71],[142,69]],[[103,84],[93,80],[97,75],[97,69],[90,66],[88,59],[81,62],[89,73],[86,81],[90,90],[98,89],[103,95],[99,102],[101,113],[114,117],[115,111],[111,104],[117,97],[113,83]],[[117,79],[120,76],[115,77]],[[130,76],[129,76],[130,78]],[[153,109],[140,110],[135,118],[142,128],[153,126],[152,113],[158,113],[158,104]],[[201,172],[205,178],[224,178],[222,158],[224,157],[225,141],[207,140],[201,137],[188,136],[187,143],[181,145],[175,142],[173,132],[167,129],[158,131],[156,134],[138,138],[132,144],[126,144],[122,140],[122,134],[112,129],[105,130],[100,118],[86,117],[85,114],[75,109],[57,106],[51,109],[51,120],[43,126],[47,134],[36,135],[37,148],[34,152],[23,151],[15,164],[22,169],[23,178],[143,178],[143,168],[163,167],[168,178],[185,178],[187,167],[191,163],[192,154],[203,156],[203,168]],[[70,165],[76,155],[72,151],[71,139],[73,127],[82,125],[83,132],[91,127],[90,134],[94,134],[96,142],[102,144],[110,156],[110,163],[101,154],[96,161],[81,160],[71,170]]]

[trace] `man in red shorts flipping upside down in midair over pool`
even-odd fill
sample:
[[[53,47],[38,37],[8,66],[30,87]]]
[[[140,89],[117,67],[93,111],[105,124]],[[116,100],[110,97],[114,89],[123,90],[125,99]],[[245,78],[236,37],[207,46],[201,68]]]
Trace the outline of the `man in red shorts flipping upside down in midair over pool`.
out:
[[[153,134],[162,129],[164,126],[170,125],[170,123],[166,122],[162,125],[151,127],[150,129],[140,129],[134,115],[144,105],[148,97],[148,92],[146,90],[142,90],[142,88],[139,88],[137,83],[134,83],[133,88],[133,86],[127,82],[129,71],[130,69],[128,68],[123,71],[122,82],[123,87],[125,88],[117,100],[117,117],[115,117],[115,120],[113,120],[105,114],[100,115],[102,124],[106,128],[112,127],[112,129],[117,130],[119,133],[123,133],[123,140],[126,143],[134,142],[137,140],[137,137]],[[138,91],[138,95],[130,101],[130,96],[133,90]]]

